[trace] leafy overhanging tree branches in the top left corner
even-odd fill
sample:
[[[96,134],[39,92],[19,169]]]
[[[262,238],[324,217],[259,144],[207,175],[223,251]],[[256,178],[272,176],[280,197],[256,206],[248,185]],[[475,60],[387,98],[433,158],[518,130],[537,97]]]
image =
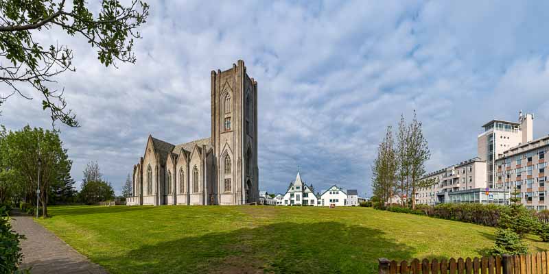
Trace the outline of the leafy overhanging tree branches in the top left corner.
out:
[[[102,0],[97,14],[93,14],[82,0],[65,5],[65,0],[0,1],[0,57],[8,62],[0,64],[0,82],[12,89],[0,97],[0,105],[8,97],[19,94],[25,99],[28,86],[42,95],[43,109],[48,109],[52,123],[56,120],[78,127],[63,91],[51,89],[56,75],[75,71],[73,52],[67,45],[42,45],[34,38],[38,32],[61,29],[69,36],[81,36],[97,50],[97,58],[105,66],[115,62],[135,63],[134,38],[141,38],[137,28],[149,14],[147,3],[132,0],[124,6],[117,0]],[[37,32],[38,31],[38,32]]]

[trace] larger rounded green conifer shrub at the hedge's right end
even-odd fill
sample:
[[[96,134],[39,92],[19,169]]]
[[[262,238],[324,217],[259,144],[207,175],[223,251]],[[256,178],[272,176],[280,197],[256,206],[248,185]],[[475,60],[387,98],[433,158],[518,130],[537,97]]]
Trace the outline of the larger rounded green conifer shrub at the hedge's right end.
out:
[[[539,230],[539,221],[534,212],[524,208],[522,205],[511,205],[504,207],[498,227],[511,229],[520,237],[530,232]]]

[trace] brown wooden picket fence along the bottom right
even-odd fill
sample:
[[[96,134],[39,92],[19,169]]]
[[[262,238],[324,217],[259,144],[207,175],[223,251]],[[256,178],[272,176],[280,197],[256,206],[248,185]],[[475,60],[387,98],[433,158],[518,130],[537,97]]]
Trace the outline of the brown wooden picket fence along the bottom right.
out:
[[[549,274],[549,252],[517,256],[390,261],[379,259],[379,274]]]

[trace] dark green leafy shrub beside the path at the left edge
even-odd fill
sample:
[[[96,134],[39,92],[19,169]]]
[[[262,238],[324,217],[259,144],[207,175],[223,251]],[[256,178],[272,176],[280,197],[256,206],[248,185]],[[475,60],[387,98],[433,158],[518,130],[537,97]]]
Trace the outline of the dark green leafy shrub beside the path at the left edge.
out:
[[[0,273],[19,273],[17,267],[23,260],[19,245],[24,238],[12,230],[8,217],[0,217]]]

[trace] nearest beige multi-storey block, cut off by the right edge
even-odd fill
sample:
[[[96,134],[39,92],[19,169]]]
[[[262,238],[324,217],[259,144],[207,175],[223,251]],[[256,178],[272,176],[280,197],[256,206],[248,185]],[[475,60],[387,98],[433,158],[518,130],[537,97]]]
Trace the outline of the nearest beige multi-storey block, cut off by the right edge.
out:
[[[545,136],[512,147],[498,155],[498,160],[495,161],[496,186],[513,193],[513,197],[520,198],[527,208],[546,209],[545,155],[548,149],[549,136]],[[520,194],[515,195],[516,192]]]

